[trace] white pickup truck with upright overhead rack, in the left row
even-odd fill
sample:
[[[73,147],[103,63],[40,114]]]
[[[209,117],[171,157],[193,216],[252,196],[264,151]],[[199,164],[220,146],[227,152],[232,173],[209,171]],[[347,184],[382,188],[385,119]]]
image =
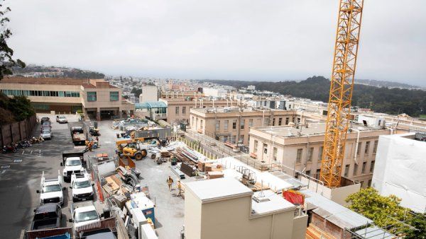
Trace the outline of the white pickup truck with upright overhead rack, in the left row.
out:
[[[65,190],[65,187],[62,187],[59,170],[58,177],[52,179],[45,178],[43,171],[40,187],[41,190],[37,190],[37,193],[40,194],[40,204],[47,204],[50,202],[60,203],[61,205],[64,204],[64,194],[62,191]]]

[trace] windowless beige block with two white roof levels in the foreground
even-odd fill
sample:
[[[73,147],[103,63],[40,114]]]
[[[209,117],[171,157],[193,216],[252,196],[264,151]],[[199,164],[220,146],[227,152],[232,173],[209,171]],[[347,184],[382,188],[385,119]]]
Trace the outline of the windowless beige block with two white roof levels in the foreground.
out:
[[[307,215],[283,197],[234,178],[185,185],[185,238],[305,238],[306,226]]]

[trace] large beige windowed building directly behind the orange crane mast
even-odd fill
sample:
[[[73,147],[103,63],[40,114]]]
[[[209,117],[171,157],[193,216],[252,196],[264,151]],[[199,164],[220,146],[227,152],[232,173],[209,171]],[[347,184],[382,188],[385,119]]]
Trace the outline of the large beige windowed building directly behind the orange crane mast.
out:
[[[307,127],[256,127],[250,129],[250,153],[260,161],[318,177],[321,168],[325,123]],[[378,136],[392,134],[390,129],[378,129],[354,124],[347,134],[342,176],[371,185]],[[293,173],[293,170],[291,173]],[[287,170],[288,171],[288,170]]]

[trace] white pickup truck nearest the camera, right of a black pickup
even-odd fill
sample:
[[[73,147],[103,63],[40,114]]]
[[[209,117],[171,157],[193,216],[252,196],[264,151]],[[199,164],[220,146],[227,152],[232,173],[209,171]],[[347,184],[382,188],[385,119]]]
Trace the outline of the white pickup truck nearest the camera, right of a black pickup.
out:
[[[75,202],[71,204],[70,222],[74,222],[74,228],[79,228],[90,223],[101,221],[93,202]]]

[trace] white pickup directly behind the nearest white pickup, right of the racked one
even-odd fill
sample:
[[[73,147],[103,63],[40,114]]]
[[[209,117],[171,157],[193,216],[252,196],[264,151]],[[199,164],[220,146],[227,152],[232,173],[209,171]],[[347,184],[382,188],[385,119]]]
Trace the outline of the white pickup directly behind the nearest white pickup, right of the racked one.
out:
[[[72,202],[93,201],[93,185],[86,170],[80,173],[72,173],[70,186],[70,189],[72,189]]]

